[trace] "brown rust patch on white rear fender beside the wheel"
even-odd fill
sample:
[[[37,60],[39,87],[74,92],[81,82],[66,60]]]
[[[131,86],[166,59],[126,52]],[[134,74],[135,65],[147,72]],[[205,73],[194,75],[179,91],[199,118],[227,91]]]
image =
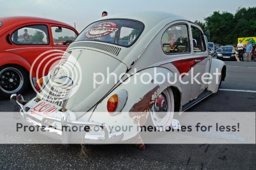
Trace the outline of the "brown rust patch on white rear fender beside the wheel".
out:
[[[132,106],[129,111],[129,117],[133,119],[134,124],[138,125],[139,123],[141,126],[145,125],[148,113],[157,98],[158,89],[160,89],[159,85],[146,93],[146,95],[140,98],[140,101]]]

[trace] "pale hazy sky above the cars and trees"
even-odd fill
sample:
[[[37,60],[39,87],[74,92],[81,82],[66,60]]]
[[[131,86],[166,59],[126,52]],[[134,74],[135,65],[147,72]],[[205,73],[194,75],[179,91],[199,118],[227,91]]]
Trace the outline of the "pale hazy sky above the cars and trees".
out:
[[[256,0],[0,0],[0,17],[36,16],[74,26],[81,32],[101,17],[138,11],[179,14],[188,20],[204,21],[214,11],[235,13],[238,7],[256,6]]]

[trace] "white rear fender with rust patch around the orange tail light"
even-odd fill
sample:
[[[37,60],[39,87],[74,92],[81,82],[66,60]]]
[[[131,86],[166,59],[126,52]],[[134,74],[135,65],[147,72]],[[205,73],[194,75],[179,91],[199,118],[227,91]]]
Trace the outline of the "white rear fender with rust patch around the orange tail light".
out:
[[[140,73],[140,75],[142,73],[147,73],[154,77],[154,68],[144,69],[138,73]],[[156,73],[163,73],[166,76],[167,73],[169,73],[170,81],[174,82],[174,74],[170,70],[163,67],[156,67]],[[135,78],[137,82],[136,84],[134,84]],[[161,76],[156,78],[158,82],[162,80]],[[179,81],[176,81],[176,83],[172,85],[168,83],[167,79],[162,84],[156,84],[154,82],[156,82],[156,80],[152,79],[150,83],[144,84],[140,81],[140,76],[132,75],[129,83],[125,81],[127,84],[122,83],[119,85],[101,103],[97,105],[96,109],[92,113],[92,116],[90,117],[90,121],[103,122],[107,128],[109,128],[109,126],[132,126],[129,131],[124,131],[123,140],[134,137],[139,132],[137,128],[145,124],[152,105],[154,104],[158,95],[160,95],[164,89],[174,86],[181,91]],[[126,105],[120,113],[112,116],[108,114],[106,108],[108,98],[123,89],[125,89],[128,93]]]

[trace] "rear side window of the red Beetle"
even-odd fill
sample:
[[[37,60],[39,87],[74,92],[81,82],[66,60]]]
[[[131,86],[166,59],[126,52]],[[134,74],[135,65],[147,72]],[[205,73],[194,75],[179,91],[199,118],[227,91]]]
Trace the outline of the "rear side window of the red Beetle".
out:
[[[12,34],[12,42],[18,45],[49,44],[48,29],[45,25],[26,26]]]

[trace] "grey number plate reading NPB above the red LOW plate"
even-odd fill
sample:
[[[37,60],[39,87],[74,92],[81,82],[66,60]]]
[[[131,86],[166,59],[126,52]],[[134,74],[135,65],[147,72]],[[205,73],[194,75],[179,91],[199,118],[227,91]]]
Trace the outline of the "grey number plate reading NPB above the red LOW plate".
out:
[[[51,89],[46,93],[47,95],[44,96],[44,100],[64,108],[66,106],[70,92],[71,89],[52,85]]]

